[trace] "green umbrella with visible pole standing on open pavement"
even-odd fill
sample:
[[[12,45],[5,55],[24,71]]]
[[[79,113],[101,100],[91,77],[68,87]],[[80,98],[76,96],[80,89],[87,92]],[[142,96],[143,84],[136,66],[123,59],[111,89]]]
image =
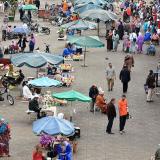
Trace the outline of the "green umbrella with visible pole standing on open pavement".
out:
[[[86,60],[86,48],[101,48],[104,47],[104,43],[100,41],[99,37],[97,36],[68,36],[67,40],[80,47],[84,47],[84,64],[83,67],[86,67],[85,60]]]

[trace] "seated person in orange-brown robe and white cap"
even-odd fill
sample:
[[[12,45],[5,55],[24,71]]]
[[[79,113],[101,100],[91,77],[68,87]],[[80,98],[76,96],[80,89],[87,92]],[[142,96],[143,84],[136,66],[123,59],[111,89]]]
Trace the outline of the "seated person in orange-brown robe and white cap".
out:
[[[103,90],[99,90],[99,94],[96,97],[96,106],[101,110],[102,113],[106,114],[107,103],[104,98],[104,91]]]

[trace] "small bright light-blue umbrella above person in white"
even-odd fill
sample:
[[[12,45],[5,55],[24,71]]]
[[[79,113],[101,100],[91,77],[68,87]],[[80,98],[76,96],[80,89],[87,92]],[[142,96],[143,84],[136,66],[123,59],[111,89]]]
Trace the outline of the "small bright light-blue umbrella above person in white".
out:
[[[60,86],[62,83],[60,81],[48,78],[48,77],[41,77],[28,82],[35,87],[52,87],[52,86]]]

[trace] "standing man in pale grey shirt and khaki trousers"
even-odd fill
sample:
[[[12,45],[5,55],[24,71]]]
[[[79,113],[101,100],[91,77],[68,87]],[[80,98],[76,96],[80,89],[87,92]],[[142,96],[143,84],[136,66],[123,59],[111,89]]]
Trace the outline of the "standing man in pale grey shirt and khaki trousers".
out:
[[[108,82],[108,91],[112,91],[114,86],[114,80],[116,79],[116,72],[114,67],[112,67],[112,63],[108,64],[108,68],[106,69],[106,78]]]

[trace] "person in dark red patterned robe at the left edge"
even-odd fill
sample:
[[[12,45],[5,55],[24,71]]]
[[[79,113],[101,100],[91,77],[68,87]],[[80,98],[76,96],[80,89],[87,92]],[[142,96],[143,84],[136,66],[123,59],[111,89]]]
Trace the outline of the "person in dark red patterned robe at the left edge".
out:
[[[10,127],[4,119],[0,120],[0,157],[10,157],[9,154]]]

